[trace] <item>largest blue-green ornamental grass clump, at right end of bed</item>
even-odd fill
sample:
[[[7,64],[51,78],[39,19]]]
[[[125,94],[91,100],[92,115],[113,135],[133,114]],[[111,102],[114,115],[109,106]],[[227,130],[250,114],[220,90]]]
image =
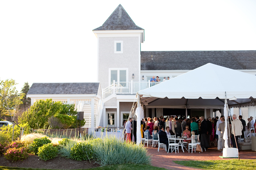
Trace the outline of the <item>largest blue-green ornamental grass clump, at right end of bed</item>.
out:
[[[101,166],[113,164],[150,164],[151,156],[142,145],[123,142],[114,136],[88,141],[92,145],[94,158]]]

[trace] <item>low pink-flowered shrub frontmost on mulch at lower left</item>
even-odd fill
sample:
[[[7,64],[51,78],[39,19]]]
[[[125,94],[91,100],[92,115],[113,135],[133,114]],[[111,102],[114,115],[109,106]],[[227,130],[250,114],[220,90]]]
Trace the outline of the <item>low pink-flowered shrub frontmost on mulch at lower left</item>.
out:
[[[6,159],[12,161],[23,161],[28,158],[28,156],[27,148],[25,147],[9,148],[4,155]]]

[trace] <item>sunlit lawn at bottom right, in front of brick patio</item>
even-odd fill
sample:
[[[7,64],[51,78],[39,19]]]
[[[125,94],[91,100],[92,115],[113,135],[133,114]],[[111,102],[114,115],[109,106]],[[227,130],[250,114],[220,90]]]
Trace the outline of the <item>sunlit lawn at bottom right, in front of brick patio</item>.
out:
[[[253,170],[256,169],[254,159],[230,159],[230,160],[208,160],[208,161],[173,161],[176,164],[199,169],[211,170]]]

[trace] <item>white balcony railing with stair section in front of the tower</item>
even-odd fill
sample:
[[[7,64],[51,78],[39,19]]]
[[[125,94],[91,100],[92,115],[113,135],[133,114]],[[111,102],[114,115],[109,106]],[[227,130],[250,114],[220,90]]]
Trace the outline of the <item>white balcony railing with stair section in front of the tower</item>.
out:
[[[103,99],[109,97],[112,94],[136,94],[138,91],[149,88],[160,82],[113,82],[112,85],[106,87],[102,91]]]

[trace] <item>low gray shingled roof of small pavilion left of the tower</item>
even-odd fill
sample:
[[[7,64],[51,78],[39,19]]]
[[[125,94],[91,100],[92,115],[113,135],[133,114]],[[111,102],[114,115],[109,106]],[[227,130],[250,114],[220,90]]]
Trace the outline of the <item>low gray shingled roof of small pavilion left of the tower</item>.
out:
[[[97,94],[99,83],[33,83],[29,94]]]

